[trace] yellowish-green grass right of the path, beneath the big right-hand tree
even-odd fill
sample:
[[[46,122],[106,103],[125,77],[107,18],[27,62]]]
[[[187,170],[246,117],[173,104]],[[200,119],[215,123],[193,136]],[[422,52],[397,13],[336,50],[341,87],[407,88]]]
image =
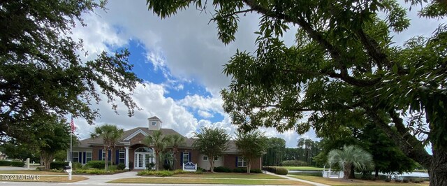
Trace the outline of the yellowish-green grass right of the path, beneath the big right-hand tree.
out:
[[[424,183],[393,183],[393,182],[385,182],[383,180],[376,180],[376,181],[370,181],[370,180],[357,180],[357,179],[349,179],[349,180],[343,180],[343,179],[335,179],[335,178],[322,178],[322,177],[316,177],[316,176],[291,176],[292,178],[298,178],[302,180],[308,180],[316,183],[323,183],[326,185],[371,185],[371,186],[382,186],[382,185],[429,185],[428,182]]]

